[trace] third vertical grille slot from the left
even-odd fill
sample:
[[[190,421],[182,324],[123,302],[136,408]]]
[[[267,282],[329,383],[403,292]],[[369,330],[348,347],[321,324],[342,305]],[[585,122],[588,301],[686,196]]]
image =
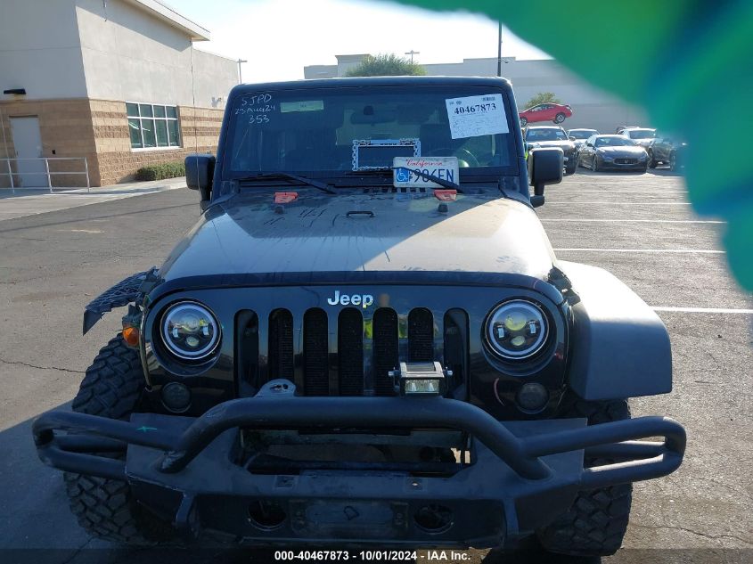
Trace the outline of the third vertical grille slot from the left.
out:
[[[323,309],[309,309],[303,316],[303,387],[307,396],[330,393],[327,329],[327,314]]]

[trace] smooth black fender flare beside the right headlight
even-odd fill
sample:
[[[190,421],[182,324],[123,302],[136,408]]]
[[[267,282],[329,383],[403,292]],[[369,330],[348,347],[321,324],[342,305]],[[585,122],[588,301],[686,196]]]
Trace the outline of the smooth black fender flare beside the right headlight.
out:
[[[672,391],[672,349],[659,315],[602,268],[560,261],[572,305],[569,386],[586,400]]]

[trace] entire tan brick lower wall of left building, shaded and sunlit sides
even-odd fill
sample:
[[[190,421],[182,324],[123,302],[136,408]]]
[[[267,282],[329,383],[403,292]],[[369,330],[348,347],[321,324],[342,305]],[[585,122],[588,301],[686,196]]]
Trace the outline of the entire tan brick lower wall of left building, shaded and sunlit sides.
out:
[[[190,152],[216,152],[223,110],[179,107],[181,147],[168,150],[131,149],[125,102],[53,100],[0,102],[0,159],[15,157],[10,118],[36,116],[45,157],[86,157],[92,186],[133,180],[145,165],[182,161]],[[6,152],[7,151],[7,152]],[[53,155],[53,151],[55,154]],[[4,161],[0,163],[4,172]],[[83,170],[82,161],[54,162],[51,170]],[[15,168],[13,168],[15,171]],[[86,185],[85,176],[53,176],[54,186]],[[0,187],[8,187],[0,174]]]

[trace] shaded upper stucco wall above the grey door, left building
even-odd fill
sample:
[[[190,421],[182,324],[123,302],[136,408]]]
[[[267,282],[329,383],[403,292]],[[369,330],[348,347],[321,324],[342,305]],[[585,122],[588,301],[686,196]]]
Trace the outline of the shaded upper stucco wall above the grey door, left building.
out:
[[[0,0],[0,92],[11,88],[35,100],[86,96],[74,0]]]

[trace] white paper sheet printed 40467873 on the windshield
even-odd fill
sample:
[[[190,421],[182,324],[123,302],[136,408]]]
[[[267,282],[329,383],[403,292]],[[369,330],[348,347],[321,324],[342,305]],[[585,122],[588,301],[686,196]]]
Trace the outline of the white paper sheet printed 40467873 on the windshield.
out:
[[[449,98],[445,102],[453,139],[510,132],[502,94]]]

